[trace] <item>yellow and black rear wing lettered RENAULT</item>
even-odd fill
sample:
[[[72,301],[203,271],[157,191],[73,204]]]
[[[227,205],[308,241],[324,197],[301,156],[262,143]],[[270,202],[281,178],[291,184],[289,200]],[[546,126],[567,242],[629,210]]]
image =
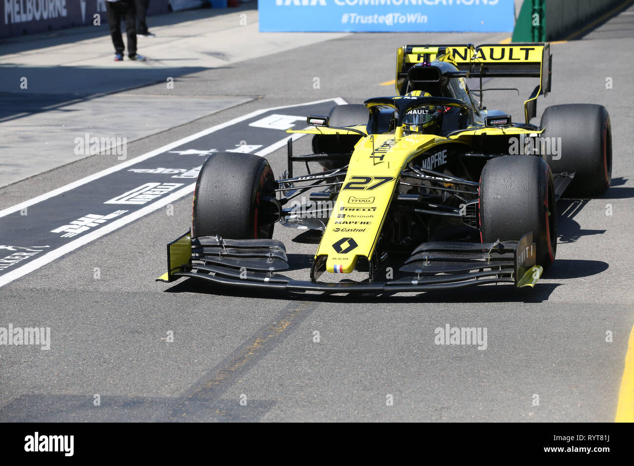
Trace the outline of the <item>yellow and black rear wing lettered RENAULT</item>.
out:
[[[396,54],[396,92],[403,95],[407,74],[416,63],[448,61],[465,77],[536,77],[540,84],[524,101],[526,122],[536,116],[537,96],[550,92],[552,55],[550,44],[405,45]],[[482,88],[482,86],[480,86]]]

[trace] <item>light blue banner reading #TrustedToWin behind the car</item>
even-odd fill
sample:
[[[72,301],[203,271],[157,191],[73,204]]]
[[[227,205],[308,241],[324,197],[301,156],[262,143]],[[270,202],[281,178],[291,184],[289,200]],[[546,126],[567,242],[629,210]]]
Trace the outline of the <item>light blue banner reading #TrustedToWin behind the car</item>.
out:
[[[514,0],[259,0],[262,32],[510,32]]]

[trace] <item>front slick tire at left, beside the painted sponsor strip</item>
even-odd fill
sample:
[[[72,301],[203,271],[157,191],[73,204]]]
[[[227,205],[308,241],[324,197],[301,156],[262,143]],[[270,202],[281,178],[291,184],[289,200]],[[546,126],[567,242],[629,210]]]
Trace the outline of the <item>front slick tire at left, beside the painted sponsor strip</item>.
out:
[[[245,153],[214,153],[200,169],[191,213],[191,237],[270,239],[275,219],[270,202],[275,177],[269,162]]]

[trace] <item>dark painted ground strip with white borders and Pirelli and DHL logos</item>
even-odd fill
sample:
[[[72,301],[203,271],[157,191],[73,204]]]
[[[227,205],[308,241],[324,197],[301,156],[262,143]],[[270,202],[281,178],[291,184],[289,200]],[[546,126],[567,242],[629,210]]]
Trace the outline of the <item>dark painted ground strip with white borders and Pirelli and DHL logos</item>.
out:
[[[344,101],[334,98],[257,110],[1,210],[0,287],[190,195],[211,154],[266,155],[285,145],[287,129],[306,125],[301,115],[327,112],[338,103]]]

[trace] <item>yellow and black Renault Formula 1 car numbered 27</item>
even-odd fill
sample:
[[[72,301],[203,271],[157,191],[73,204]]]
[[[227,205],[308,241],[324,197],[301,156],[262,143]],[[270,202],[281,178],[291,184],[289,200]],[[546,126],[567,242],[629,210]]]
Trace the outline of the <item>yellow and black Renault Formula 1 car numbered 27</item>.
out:
[[[398,95],[340,105],[289,130],[313,134],[314,153],[293,155],[289,141],[283,179],[256,155],[211,155],[191,231],[168,245],[162,280],[297,292],[532,287],[555,260],[557,199],[599,195],[611,182],[604,107],[555,105],[540,126],[530,123],[550,91],[551,63],[548,44],[403,46]],[[539,79],[524,122],[482,107],[493,89],[470,90],[465,78],[487,77]],[[294,176],[296,162],[323,171]],[[302,194],[309,203],[298,205]],[[323,231],[306,280],[283,275],[278,222]],[[353,271],[362,278],[350,280]]]

